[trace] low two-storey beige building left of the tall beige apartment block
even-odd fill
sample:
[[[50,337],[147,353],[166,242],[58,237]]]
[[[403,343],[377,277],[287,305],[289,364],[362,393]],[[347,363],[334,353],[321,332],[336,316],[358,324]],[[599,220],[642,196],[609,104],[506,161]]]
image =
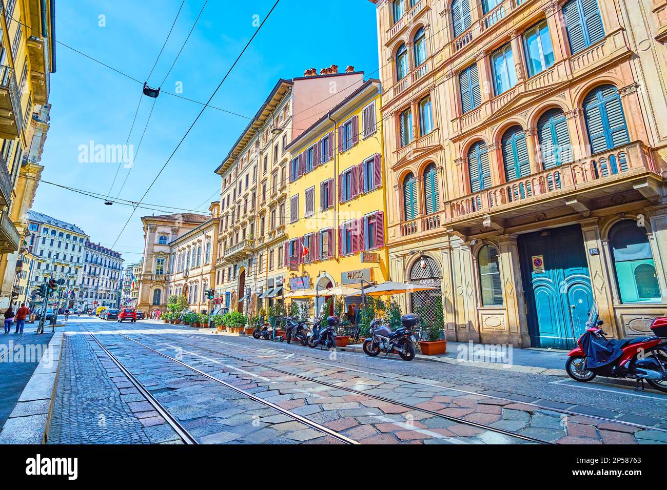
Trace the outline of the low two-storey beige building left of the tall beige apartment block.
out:
[[[211,203],[210,219],[169,243],[167,294],[185,295],[189,311],[197,313],[210,312],[214,303],[206,291],[215,282],[219,206]]]

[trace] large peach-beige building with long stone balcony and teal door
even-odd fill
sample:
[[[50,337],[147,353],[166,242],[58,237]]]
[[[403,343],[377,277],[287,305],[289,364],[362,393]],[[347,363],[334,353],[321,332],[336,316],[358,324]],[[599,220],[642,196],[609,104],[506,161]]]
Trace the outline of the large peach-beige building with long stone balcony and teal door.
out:
[[[395,281],[446,337],[568,348],[667,308],[667,1],[376,0]]]

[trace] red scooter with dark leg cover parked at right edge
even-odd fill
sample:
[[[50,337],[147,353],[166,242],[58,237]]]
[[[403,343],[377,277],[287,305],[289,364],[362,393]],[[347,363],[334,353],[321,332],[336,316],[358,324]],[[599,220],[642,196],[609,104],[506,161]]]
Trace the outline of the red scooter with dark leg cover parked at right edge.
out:
[[[565,369],[576,381],[586,383],[596,376],[636,380],[636,390],[644,390],[644,381],[667,392],[667,317],[651,323],[655,336],[607,339],[600,328],[597,305],[593,306],[586,332],[578,347],[568,353]]]

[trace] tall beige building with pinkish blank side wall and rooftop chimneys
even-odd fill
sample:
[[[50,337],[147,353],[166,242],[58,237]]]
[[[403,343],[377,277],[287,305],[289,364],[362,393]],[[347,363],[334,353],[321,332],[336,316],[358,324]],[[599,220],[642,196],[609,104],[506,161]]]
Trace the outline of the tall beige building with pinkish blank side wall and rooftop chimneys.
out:
[[[246,311],[253,294],[270,305],[289,279],[287,145],[364,83],[364,74],[331,65],[280,79],[215,173],[222,178],[215,303]]]

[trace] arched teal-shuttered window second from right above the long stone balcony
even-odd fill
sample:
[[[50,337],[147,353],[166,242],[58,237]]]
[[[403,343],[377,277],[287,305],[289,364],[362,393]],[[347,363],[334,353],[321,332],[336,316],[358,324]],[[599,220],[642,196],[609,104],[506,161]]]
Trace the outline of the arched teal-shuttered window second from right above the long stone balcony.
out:
[[[561,109],[550,109],[538,121],[540,154],[544,170],[572,162],[568,121]]]

